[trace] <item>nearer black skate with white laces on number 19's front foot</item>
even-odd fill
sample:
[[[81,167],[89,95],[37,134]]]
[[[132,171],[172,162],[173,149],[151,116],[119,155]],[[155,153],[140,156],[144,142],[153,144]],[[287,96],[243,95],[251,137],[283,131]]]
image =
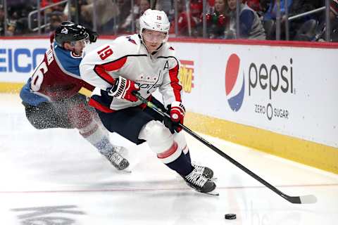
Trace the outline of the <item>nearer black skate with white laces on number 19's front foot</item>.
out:
[[[184,181],[198,192],[218,195],[218,193],[213,192],[216,188],[215,183],[202,175],[196,168],[190,174],[184,176]]]

